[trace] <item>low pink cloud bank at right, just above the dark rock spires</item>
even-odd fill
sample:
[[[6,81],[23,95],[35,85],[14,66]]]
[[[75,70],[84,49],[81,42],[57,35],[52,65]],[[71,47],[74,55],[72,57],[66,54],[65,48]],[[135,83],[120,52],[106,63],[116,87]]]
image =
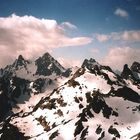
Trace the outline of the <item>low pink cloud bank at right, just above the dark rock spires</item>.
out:
[[[124,64],[132,65],[134,61],[140,62],[140,48],[115,47],[110,48],[108,54],[101,60],[104,65],[113,69],[122,70]]]

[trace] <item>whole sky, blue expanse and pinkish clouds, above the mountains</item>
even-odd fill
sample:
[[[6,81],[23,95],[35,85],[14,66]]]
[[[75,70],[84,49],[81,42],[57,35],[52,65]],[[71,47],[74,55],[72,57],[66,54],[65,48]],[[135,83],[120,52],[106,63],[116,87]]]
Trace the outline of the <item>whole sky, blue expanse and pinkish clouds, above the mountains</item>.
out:
[[[140,62],[140,0],[0,0],[0,67],[45,52],[65,67]]]

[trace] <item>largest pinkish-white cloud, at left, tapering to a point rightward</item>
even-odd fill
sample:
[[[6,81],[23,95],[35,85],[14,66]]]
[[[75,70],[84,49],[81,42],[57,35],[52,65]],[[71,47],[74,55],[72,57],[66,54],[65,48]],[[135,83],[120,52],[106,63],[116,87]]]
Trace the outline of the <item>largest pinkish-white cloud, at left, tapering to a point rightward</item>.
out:
[[[65,25],[62,27],[62,24]],[[89,37],[69,37],[66,26],[56,20],[38,19],[33,16],[0,17],[0,67],[11,63],[19,54],[27,59],[38,57],[47,51],[67,46],[81,46],[92,42]]]

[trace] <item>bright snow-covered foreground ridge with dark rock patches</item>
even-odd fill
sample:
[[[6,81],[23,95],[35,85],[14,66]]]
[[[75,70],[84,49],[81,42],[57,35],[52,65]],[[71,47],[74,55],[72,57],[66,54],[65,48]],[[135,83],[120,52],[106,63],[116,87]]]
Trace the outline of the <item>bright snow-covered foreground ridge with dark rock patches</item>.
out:
[[[47,66],[51,69],[52,64]],[[9,136],[9,131],[13,135],[16,132],[18,139],[30,140],[129,140],[139,133],[139,83],[127,73],[124,78],[90,59],[69,78],[59,77],[57,83],[61,82],[53,91],[44,87],[40,91],[38,85],[44,80],[45,85],[49,84],[51,76],[40,75],[41,79],[29,81],[35,95],[23,105],[18,104],[20,112],[2,125],[1,138]],[[24,105],[30,106],[28,112]]]

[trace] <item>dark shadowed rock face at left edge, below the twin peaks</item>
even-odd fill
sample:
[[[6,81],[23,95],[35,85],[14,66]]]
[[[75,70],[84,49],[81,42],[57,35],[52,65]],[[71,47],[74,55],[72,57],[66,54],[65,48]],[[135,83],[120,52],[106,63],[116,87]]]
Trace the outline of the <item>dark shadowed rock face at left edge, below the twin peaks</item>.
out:
[[[22,94],[29,94],[28,84],[28,80],[18,77],[0,78],[0,121],[6,117]]]

